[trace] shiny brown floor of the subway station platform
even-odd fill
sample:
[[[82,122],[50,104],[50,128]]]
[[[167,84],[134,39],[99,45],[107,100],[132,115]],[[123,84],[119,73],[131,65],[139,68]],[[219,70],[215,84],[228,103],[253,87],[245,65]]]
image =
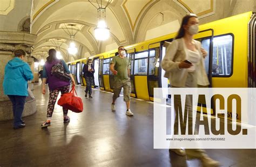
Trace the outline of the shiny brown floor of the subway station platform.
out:
[[[48,93],[35,85],[37,112],[25,117],[26,127],[12,129],[12,121],[0,122],[0,166],[201,166],[199,161],[153,149],[153,104],[132,98],[133,117],[125,115],[123,97],[110,103],[112,93],[93,90],[83,98],[83,113],[69,112],[63,123],[62,108],[56,104],[51,126],[45,129]],[[11,111],[10,111],[11,112]],[[207,154],[222,166],[255,166],[255,149],[208,149]]]

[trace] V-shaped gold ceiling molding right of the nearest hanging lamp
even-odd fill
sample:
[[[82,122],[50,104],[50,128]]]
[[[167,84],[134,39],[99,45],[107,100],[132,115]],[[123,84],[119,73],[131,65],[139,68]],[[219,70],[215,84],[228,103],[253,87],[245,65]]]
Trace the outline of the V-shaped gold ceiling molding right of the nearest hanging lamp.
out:
[[[124,2],[123,2],[123,4],[122,4],[122,9],[124,10],[124,13],[126,14],[127,19],[129,19],[132,32],[134,32],[134,29],[135,29],[135,27],[136,27],[136,25],[137,25],[137,22],[138,22],[138,20],[139,20],[139,17],[142,16],[142,13],[143,13],[143,11],[145,10],[146,6],[148,6],[149,4],[151,4],[152,2],[154,2],[154,0],[148,0],[147,3],[145,2],[146,4],[144,4],[143,6],[141,6],[140,11],[139,11],[139,13],[137,14],[135,20],[134,20],[134,18],[131,18],[131,14],[130,14],[130,12],[134,12],[134,10],[129,12],[129,9],[127,9],[127,6],[126,6],[126,5],[127,5],[127,3],[129,3],[128,1],[133,1],[133,0],[124,0]],[[134,22],[133,22],[132,20],[134,20]]]

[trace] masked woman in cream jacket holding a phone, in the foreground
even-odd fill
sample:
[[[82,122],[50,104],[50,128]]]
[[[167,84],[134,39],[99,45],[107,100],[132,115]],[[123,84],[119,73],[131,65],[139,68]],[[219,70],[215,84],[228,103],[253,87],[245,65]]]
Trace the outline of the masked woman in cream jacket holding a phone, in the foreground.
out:
[[[172,88],[197,88],[209,84],[204,66],[207,52],[201,48],[199,41],[193,40],[198,33],[199,20],[196,14],[187,14],[181,23],[175,40],[166,48],[162,68],[169,74]],[[174,99],[178,104],[179,99]],[[190,101],[190,100],[188,100]],[[192,108],[192,104],[186,104]],[[176,111],[178,112],[178,111]],[[192,112],[192,110],[188,111]],[[178,113],[176,113],[177,117]],[[188,122],[192,121],[192,114],[188,114]],[[175,119],[178,121],[178,119]],[[175,122],[178,124],[178,122]],[[190,124],[190,123],[188,123]],[[185,127],[181,127],[185,128]],[[178,129],[174,129],[177,132]],[[203,166],[219,166],[219,162],[211,159],[202,149],[170,149],[174,153],[187,156],[187,159],[197,158]]]

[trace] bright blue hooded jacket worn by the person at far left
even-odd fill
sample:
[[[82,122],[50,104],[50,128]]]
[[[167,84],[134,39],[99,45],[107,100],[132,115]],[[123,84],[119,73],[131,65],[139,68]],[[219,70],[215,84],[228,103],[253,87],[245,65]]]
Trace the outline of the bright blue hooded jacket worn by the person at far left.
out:
[[[4,95],[28,96],[28,81],[32,79],[29,64],[15,57],[4,69]]]

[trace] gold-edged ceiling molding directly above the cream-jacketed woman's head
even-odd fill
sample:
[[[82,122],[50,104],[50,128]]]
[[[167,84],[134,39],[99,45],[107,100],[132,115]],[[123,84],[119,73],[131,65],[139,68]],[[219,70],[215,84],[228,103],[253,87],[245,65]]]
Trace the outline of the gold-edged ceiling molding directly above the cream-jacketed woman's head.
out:
[[[187,2],[186,2],[187,1]],[[200,1],[200,2],[199,2]],[[199,18],[204,18],[207,16],[211,16],[212,14],[215,14],[215,0],[207,0],[210,4],[210,6],[203,6],[202,9],[198,11],[196,8],[198,7],[198,3],[203,5],[206,4],[206,0],[198,0],[198,3],[193,3],[194,6],[188,4],[188,0],[173,0],[173,2],[177,3],[181,8],[183,8],[187,13],[194,13],[197,14]],[[206,9],[206,10],[205,10]]]

